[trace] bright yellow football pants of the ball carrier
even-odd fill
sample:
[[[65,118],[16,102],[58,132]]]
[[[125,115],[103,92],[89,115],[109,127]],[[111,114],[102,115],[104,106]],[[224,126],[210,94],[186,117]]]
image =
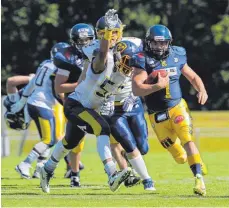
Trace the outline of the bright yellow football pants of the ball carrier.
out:
[[[177,163],[185,163],[187,155],[182,147],[193,141],[193,125],[190,111],[184,99],[173,108],[168,109],[168,119],[156,122],[156,113],[150,114],[150,122],[159,142],[173,156]]]

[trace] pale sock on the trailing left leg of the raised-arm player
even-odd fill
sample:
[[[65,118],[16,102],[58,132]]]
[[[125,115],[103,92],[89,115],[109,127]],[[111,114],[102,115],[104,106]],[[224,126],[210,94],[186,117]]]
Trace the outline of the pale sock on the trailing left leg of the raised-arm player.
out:
[[[55,145],[55,148],[52,152],[51,157],[48,159],[48,161],[45,163],[45,170],[49,173],[53,173],[56,169],[60,159],[64,158],[65,155],[67,155],[70,152],[70,150],[66,149],[63,146],[62,141],[57,142]]]

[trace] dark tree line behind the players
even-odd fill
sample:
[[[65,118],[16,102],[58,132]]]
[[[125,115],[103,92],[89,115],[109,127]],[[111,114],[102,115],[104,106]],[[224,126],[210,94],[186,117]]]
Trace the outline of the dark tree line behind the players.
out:
[[[208,103],[199,106],[182,78],[191,109],[229,109],[228,0],[2,0],[2,94],[9,76],[34,73],[53,44],[68,41],[74,24],[95,25],[109,8],[126,24],[124,36],[144,38],[147,28],[159,23],[171,30],[173,45],[186,48],[209,94]]]

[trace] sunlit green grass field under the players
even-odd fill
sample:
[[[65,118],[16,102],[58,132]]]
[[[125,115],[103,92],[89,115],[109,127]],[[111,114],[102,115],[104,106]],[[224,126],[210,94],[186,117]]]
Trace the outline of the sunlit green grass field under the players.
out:
[[[158,144],[150,129],[150,151],[144,158],[150,175],[156,181],[156,192],[146,192],[142,185],[132,188],[122,186],[117,192],[111,192],[96,153],[96,140],[90,138],[86,141],[82,155],[82,162],[86,167],[81,172],[82,187],[69,187],[70,181],[63,178],[65,164],[62,161],[55,172],[55,178],[51,180],[51,193],[44,194],[39,188],[39,180],[21,179],[14,170],[36,140],[27,141],[27,148],[20,157],[17,156],[19,141],[12,140],[11,156],[1,161],[1,205],[2,207],[229,207],[229,132],[223,133],[221,129],[228,127],[228,116],[225,113],[211,114],[210,117],[209,114],[193,113],[193,116],[197,126],[203,128],[200,131],[198,145],[209,169],[209,174],[205,177],[206,197],[193,194],[194,179],[188,164],[176,164],[169,153]],[[213,117],[218,119],[215,124]],[[209,132],[204,129],[207,126],[210,127]],[[217,131],[219,131],[217,135],[214,134]],[[10,132],[9,135],[13,134]]]

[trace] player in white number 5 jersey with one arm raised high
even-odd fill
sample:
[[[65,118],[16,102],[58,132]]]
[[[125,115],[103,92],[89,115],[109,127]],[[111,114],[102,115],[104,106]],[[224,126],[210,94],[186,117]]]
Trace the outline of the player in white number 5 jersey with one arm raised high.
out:
[[[116,191],[130,175],[129,168],[117,172],[109,145],[109,124],[96,112],[118,89],[120,81],[126,79],[120,73],[112,73],[114,61],[108,59],[108,57],[113,57],[109,45],[117,40],[118,34],[115,29],[118,24],[118,15],[115,12],[115,10],[109,10],[105,14],[107,27],[99,49],[94,52],[95,58],[89,64],[85,72],[86,76],[83,71],[74,93],[70,94],[65,101],[64,112],[68,120],[66,135],[62,141],[57,143],[52,156],[41,170],[41,188],[44,192],[50,191],[49,181],[60,159],[76,147],[86,133],[95,134],[97,137],[97,151],[108,175],[111,191]],[[122,77],[122,79],[116,83],[116,77]]]

